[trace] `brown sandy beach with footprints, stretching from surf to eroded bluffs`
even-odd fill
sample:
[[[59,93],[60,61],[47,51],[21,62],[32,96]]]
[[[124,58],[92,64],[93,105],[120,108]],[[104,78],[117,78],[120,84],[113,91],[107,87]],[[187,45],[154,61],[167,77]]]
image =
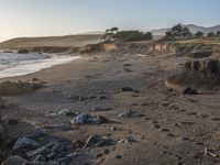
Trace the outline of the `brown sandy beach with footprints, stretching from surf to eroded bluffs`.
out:
[[[89,155],[85,160],[91,164],[218,165],[219,156],[206,154],[205,147],[220,155],[220,95],[187,96],[164,86],[164,79],[178,73],[184,63],[185,57],[176,58],[172,55],[85,57],[35,74],[10,78],[38,78],[46,81],[46,87],[36,92],[4,98],[11,108],[0,112],[34,127],[51,125],[51,134],[73,143],[84,141],[91,134],[109,136],[114,141],[131,135],[135,140],[82,150],[82,153]],[[132,87],[138,92],[122,92],[122,87]],[[90,97],[100,94],[105,94],[107,99],[69,99],[70,95]],[[95,107],[108,107],[111,110],[94,112]],[[50,119],[45,114],[63,109],[101,114],[113,122],[74,125],[68,131],[61,131],[55,125],[69,124],[73,118]],[[117,118],[124,110],[133,111],[133,117]]]

